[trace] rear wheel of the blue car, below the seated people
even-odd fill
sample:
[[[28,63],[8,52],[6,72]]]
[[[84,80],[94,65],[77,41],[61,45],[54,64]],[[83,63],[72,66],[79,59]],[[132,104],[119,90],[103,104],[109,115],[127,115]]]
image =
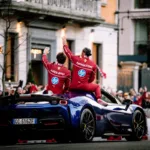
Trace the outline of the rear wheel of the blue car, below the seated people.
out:
[[[91,110],[84,109],[80,116],[80,127],[77,142],[90,142],[95,134],[95,118]]]

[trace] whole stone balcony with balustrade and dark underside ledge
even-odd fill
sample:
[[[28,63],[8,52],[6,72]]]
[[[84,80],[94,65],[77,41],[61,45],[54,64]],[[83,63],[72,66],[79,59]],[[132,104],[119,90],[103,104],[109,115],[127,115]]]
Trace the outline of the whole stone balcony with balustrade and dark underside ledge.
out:
[[[10,8],[21,15],[44,15],[51,20],[73,21],[83,26],[97,25],[100,18],[100,1],[97,0],[0,0],[0,9]],[[5,4],[5,5],[4,5]],[[21,13],[20,13],[21,12]]]

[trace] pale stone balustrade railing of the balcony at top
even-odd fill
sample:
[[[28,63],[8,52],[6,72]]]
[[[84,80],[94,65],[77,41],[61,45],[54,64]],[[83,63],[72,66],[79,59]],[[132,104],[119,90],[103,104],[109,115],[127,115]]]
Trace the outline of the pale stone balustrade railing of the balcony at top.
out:
[[[54,10],[69,15],[73,13],[77,16],[100,17],[100,2],[98,0],[22,0],[19,2],[12,0],[12,2],[33,9]]]

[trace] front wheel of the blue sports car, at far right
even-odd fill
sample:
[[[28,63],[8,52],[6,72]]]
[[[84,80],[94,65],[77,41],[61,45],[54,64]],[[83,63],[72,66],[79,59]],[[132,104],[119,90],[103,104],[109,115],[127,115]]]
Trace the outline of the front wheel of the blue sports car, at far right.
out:
[[[146,131],[146,120],[140,110],[136,110],[132,118],[132,133],[125,137],[127,141],[140,141]]]

